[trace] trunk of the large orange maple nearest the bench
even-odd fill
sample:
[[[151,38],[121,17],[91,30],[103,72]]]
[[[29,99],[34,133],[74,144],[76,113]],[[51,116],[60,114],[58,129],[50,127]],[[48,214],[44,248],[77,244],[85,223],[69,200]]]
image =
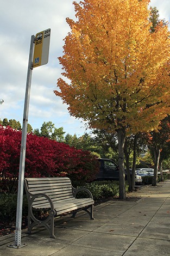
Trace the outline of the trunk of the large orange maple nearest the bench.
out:
[[[125,174],[124,174],[124,143],[125,130],[118,129],[118,167],[119,167],[119,198],[125,199]]]

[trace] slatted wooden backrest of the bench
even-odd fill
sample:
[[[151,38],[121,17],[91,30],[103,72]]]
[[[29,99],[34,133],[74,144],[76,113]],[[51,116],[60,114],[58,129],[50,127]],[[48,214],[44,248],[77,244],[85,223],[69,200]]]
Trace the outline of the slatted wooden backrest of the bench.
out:
[[[56,177],[56,178],[25,178],[24,184],[26,192],[32,194],[45,193],[53,202],[70,199],[73,197],[71,180],[67,177]],[[28,190],[28,191],[27,191]],[[33,205],[40,201],[40,198],[36,198]],[[42,200],[42,204],[45,203]]]

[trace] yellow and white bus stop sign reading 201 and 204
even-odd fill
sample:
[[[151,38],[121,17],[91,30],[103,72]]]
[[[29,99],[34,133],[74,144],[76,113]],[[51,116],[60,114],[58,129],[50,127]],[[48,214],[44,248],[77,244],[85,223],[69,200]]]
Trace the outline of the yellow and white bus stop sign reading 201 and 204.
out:
[[[36,68],[36,66],[42,66],[48,63],[50,36],[51,36],[50,28],[36,34],[33,68]]]

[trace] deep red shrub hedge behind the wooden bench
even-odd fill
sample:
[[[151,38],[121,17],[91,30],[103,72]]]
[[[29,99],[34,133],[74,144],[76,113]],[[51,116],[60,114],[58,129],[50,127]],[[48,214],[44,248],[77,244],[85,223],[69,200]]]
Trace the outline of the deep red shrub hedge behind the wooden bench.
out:
[[[18,176],[21,131],[0,126],[0,174],[4,178]],[[69,176],[71,180],[88,181],[98,172],[98,161],[89,151],[71,148],[65,143],[27,135],[25,176]]]

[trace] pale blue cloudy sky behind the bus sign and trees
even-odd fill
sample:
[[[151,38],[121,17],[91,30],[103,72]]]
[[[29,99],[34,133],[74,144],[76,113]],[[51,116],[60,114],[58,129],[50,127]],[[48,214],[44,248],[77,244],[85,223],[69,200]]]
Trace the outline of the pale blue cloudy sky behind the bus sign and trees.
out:
[[[83,135],[83,120],[71,117],[67,105],[53,90],[61,77],[63,39],[70,31],[66,17],[75,20],[72,0],[0,0],[0,119],[15,119],[22,125],[26,92],[30,39],[51,28],[48,64],[33,69],[30,90],[28,123],[40,129],[43,122],[52,121],[56,128],[63,127],[65,135]],[[79,2],[79,1],[77,1]],[[159,10],[160,19],[170,21],[169,0],[151,0]]]

